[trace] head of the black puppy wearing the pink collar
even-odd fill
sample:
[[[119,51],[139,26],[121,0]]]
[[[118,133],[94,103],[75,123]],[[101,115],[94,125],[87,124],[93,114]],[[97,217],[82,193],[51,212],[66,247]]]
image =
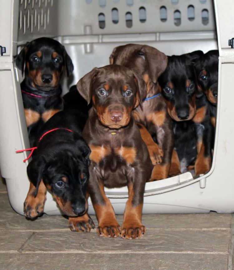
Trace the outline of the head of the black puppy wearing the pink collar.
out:
[[[45,37],[27,42],[16,58],[16,65],[22,75],[25,73],[29,85],[43,91],[58,87],[64,69],[67,76],[73,71],[64,46]]]

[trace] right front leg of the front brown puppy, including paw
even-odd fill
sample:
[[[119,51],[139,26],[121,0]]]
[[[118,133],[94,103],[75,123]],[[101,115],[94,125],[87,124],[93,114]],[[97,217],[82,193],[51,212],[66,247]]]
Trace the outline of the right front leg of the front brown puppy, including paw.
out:
[[[141,172],[138,172],[134,178],[133,181],[128,181],[129,198],[124,210],[124,221],[121,231],[121,237],[126,239],[138,239],[145,234],[145,226],[141,223],[145,186],[144,176]]]

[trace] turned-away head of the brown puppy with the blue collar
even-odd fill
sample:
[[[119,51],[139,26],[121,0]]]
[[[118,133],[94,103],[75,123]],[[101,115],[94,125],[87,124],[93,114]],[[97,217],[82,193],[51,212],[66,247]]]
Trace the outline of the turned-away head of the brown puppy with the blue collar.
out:
[[[113,50],[110,64],[135,70],[144,79],[149,92],[149,82],[157,83],[158,77],[167,66],[167,56],[148,45],[127,44]]]

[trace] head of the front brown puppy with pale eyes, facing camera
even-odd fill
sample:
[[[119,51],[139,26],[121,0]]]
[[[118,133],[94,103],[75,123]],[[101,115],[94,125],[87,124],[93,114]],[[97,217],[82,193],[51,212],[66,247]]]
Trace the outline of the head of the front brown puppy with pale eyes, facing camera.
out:
[[[80,95],[90,103],[100,122],[109,128],[129,124],[131,112],[146,96],[144,81],[129,68],[108,65],[94,68],[77,83]]]

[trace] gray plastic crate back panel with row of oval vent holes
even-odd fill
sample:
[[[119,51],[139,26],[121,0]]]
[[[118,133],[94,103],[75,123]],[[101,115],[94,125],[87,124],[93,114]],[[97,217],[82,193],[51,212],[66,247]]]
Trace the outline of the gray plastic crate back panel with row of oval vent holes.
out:
[[[128,5],[127,2],[127,0],[60,1],[58,5],[58,35],[207,31],[215,29],[212,0],[178,1],[177,4],[173,4],[174,1],[171,0],[134,0],[132,1],[133,5]],[[194,17],[191,17],[191,12],[188,11],[188,7],[191,6],[194,8]],[[161,7],[166,8],[164,14],[162,12],[160,14]],[[112,15],[113,8],[118,10],[118,22],[116,12]],[[139,11],[142,8],[145,9],[145,21],[144,15],[142,16]],[[132,17],[132,22],[130,22],[128,15]],[[100,23],[99,16],[101,16]],[[179,18],[180,25],[178,25]],[[128,27],[131,24],[132,26]],[[90,27],[89,30],[87,30],[87,26]],[[104,28],[101,29],[100,27]]]

